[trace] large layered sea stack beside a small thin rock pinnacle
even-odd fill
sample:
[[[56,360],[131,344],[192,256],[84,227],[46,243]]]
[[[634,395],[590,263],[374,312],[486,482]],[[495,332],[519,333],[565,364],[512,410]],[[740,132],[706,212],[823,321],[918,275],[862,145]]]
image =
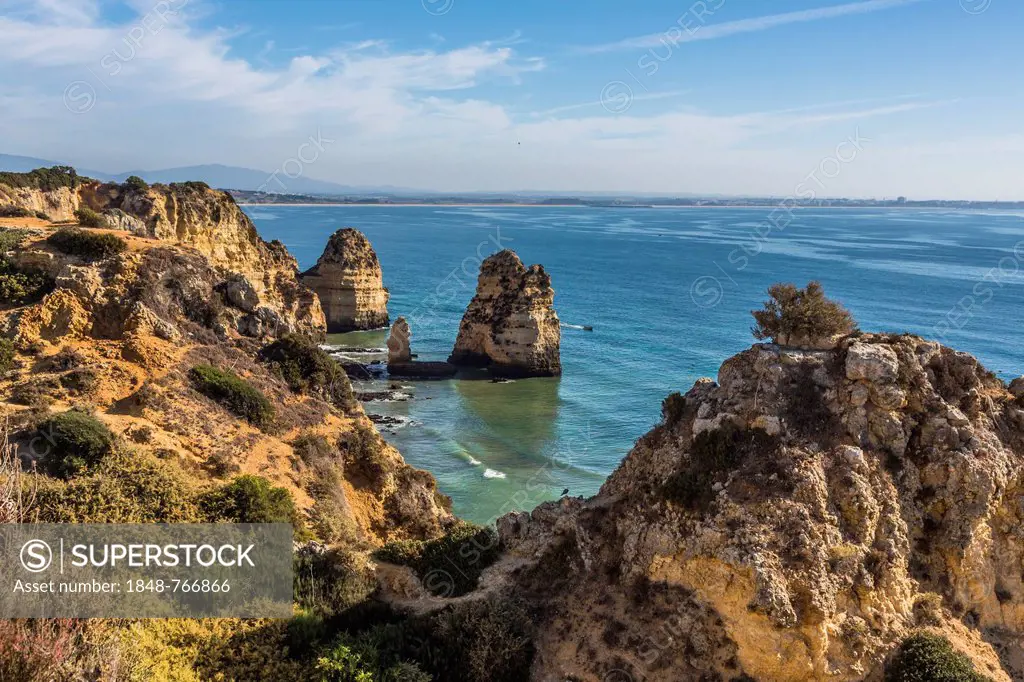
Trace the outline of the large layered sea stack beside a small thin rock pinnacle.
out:
[[[514,251],[483,261],[449,363],[485,367],[505,377],[562,373],[555,291],[542,265],[528,268]]]

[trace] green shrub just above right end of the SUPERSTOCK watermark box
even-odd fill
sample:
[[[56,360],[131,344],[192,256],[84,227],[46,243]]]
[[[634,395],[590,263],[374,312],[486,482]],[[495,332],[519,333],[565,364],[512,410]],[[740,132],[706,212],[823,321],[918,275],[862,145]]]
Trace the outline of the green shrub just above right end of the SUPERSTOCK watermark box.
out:
[[[301,524],[292,494],[272,485],[262,476],[239,476],[203,496],[200,504],[213,519],[234,523]]]

